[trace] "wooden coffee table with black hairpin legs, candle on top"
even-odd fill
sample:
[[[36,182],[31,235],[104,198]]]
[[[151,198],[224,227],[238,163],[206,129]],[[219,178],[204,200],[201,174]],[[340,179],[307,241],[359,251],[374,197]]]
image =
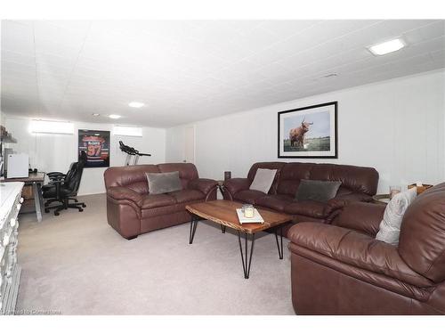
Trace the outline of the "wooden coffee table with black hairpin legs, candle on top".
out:
[[[189,243],[193,243],[196,228],[199,220],[211,220],[214,223],[221,224],[221,230],[225,233],[226,227],[231,227],[238,232],[239,251],[241,252],[241,261],[243,264],[244,278],[248,279],[250,274],[250,264],[252,263],[252,254],[254,252],[255,233],[267,230],[271,227],[275,229],[275,240],[279,248],[279,258],[283,258],[283,234],[282,224],[292,220],[291,216],[273,212],[264,209],[258,209],[263,216],[263,224],[239,224],[237,208],[241,208],[243,203],[231,200],[211,200],[203,203],[190,204],[185,208],[190,212],[190,238]],[[241,233],[244,233],[244,253],[241,244]],[[248,251],[248,239],[251,239],[250,251]],[[280,240],[280,241],[279,241]],[[247,254],[248,257],[247,257]],[[247,261],[248,259],[248,261]]]

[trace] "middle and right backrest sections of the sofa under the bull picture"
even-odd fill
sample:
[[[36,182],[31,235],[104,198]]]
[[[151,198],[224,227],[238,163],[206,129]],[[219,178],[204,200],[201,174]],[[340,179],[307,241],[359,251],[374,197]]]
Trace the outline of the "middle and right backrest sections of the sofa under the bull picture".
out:
[[[277,192],[295,196],[302,179],[341,181],[339,194],[363,192],[375,195],[378,173],[371,167],[289,162],[281,170]]]

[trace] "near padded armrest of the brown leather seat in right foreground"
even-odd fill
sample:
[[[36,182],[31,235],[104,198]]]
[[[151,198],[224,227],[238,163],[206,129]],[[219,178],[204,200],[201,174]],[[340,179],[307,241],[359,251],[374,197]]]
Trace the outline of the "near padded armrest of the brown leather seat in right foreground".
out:
[[[299,223],[287,232],[287,236],[291,240],[289,249],[297,255],[302,255],[298,248],[305,248],[417,287],[433,285],[432,281],[409,268],[395,246],[368,235],[328,224]]]

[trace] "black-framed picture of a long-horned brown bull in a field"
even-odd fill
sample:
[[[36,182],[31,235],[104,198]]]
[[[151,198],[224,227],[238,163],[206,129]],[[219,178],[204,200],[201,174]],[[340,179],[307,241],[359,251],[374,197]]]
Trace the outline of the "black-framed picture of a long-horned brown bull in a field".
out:
[[[337,158],[337,102],[278,113],[279,158]]]

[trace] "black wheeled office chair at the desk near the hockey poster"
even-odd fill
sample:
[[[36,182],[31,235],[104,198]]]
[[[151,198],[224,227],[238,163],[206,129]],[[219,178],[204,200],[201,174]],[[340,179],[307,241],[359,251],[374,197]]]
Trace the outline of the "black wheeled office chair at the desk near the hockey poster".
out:
[[[71,164],[66,175],[59,172],[51,173],[51,182],[42,189],[44,199],[49,199],[44,203],[44,212],[48,213],[50,209],[54,208],[54,216],[59,216],[61,210],[68,208],[77,208],[80,212],[84,211],[85,203],[79,202],[76,196],[85,163],[86,153],[82,151],[79,161]],[[74,200],[74,203],[69,203],[69,200]],[[49,204],[54,201],[58,201],[61,204],[50,207]]]

